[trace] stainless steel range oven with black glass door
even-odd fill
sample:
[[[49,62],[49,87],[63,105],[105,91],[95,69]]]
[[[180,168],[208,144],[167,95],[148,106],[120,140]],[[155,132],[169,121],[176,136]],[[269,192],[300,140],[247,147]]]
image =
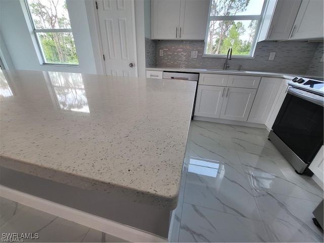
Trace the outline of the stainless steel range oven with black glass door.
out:
[[[269,140],[302,174],[323,145],[324,82],[295,77],[289,86]]]

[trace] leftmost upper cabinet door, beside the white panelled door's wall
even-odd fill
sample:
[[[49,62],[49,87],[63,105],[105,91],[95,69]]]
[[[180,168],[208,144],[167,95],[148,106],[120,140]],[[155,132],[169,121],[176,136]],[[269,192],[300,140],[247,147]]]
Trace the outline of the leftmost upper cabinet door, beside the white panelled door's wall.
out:
[[[151,16],[152,39],[178,38],[180,0],[151,1]]]

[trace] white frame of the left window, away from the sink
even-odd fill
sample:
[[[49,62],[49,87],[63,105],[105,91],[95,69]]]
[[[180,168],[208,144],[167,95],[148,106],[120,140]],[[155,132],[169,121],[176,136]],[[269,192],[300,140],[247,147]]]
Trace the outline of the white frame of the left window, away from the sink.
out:
[[[66,0],[64,0],[64,1],[66,1]],[[79,63],[78,58],[77,58],[78,64],[46,62],[46,57],[45,57],[45,54],[44,54],[44,50],[43,50],[42,44],[40,43],[40,41],[38,39],[37,33],[53,33],[53,32],[57,32],[57,33],[72,33],[72,35],[73,35],[72,28],[68,28],[68,29],[50,29],[50,28],[49,29],[36,29],[36,26],[34,24],[34,21],[33,21],[31,12],[30,12],[28,1],[24,0],[24,4],[25,4],[26,10],[27,10],[28,19],[29,19],[30,24],[31,24],[33,37],[35,38],[35,41],[37,43],[38,52],[41,54],[41,57],[42,57],[43,63],[41,65],[79,67],[80,63]],[[70,24],[71,24],[71,22],[70,22]],[[75,46],[74,36],[73,36],[73,42],[74,42],[74,46]]]

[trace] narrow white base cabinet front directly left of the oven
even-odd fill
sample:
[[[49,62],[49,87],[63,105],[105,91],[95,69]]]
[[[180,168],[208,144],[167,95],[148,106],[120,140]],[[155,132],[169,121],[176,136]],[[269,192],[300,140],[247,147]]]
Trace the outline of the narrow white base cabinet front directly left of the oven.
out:
[[[277,93],[277,95],[274,99],[274,103],[270,109],[268,118],[265,122],[265,126],[268,128],[268,130],[270,130],[272,128],[272,125],[274,124],[275,118],[277,117],[280,107],[285,100],[285,97],[287,95],[287,90],[289,88],[288,82],[289,82],[289,79],[282,79],[282,81],[281,81],[281,85],[279,87],[279,92]]]

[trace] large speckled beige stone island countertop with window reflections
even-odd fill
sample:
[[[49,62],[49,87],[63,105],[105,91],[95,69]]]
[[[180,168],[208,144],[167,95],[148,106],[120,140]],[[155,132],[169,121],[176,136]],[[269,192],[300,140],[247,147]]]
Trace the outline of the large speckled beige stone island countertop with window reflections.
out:
[[[0,74],[2,167],[176,207],[196,82]]]

